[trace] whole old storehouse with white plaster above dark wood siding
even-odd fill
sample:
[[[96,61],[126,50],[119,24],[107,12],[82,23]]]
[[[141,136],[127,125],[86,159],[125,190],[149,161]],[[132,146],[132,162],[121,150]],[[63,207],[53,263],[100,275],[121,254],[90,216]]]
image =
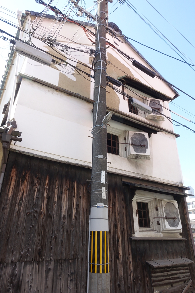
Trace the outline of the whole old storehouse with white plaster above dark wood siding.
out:
[[[57,43],[52,48],[41,38],[54,18],[45,15],[39,23],[38,13],[26,11],[20,38],[28,41],[29,30],[38,23],[31,37],[34,45],[92,76],[65,62],[49,67],[21,56],[10,105],[16,64],[11,51],[0,91],[0,132],[7,131],[3,126],[10,107],[23,139],[8,145],[1,189],[1,292],[87,292],[94,84],[86,65],[91,67],[93,59],[95,25],[69,20],[60,26],[57,41],[71,55],[63,56]],[[121,32],[117,25],[109,26]],[[86,34],[85,28],[92,33]],[[116,45],[112,30],[106,38],[108,76],[122,82],[123,92],[158,109],[158,114],[145,114],[124,94],[106,88],[107,110],[113,112],[107,126],[111,292],[168,293],[172,287],[182,292],[190,279],[193,284],[186,292],[194,292],[194,243],[176,144],[179,135],[163,116],[170,116],[169,101],[178,93],[129,42],[119,37],[123,43]],[[132,66],[125,56],[157,77]],[[135,146],[125,145],[130,142]]]

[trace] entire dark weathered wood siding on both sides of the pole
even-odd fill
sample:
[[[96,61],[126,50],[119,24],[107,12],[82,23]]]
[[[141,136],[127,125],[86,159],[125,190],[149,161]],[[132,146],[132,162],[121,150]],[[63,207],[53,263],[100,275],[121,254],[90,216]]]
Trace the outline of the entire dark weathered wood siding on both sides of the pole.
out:
[[[10,152],[0,196],[0,292],[87,291],[90,178],[87,168]],[[146,260],[194,260],[183,199],[187,241],[129,239],[133,194],[121,176],[108,174],[112,293],[152,293]]]

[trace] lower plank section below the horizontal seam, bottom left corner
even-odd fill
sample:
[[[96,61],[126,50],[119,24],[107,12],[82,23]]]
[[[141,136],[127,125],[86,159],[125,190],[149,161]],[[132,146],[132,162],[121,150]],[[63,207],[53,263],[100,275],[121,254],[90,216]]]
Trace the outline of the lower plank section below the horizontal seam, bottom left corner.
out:
[[[85,293],[81,260],[45,260],[0,265],[0,292]]]

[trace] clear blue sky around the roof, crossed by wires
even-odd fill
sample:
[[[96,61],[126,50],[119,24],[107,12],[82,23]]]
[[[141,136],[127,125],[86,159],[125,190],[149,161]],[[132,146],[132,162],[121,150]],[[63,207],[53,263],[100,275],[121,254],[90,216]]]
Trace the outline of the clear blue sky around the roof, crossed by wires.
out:
[[[45,1],[46,2],[46,1]],[[85,1],[86,8],[94,5],[93,1]],[[194,47],[187,42],[165,19],[159,15],[153,7],[149,5],[146,0],[130,0],[131,4],[135,6],[175,47],[177,47],[183,54],[185,54],[188,59],[192,59],[195,62],[195,39],[194,39],[194,29],[195,29],[195,1],[186,0],[164,0],[164,1],[154,1],[148,0],[148,2],[156,8],[184,37],[191,42]],[[65,1],[59,0],[54,1],[52,5],[56,5],[57,8],[61,9],[64,6]],[[80,1],[80,5],[83,2]],[[1,1],[1,5],[16,12],[17,8],[19,10],[33,10],[42,11],[44,6],[37,4],[35,0],[19,0],[8,2]],[[120,7],[118,7],[120,6]],[[118,8],[117,8],[118,7]],[[0,7],[1,8],[1,7]],[[116,11],[114,11],[114,9]],[[15,18],[12,18],[5,13],[11,15],[10,12],[6,12],[2,8],[0,9],[0,16],[17,23]],[[5,12],[5,13],[2,13]],[[111,13],[114,11],[113,13]],[[49,12],[52,14],[52,12]],[[159,50],[165,54],[169,54],[173,57],[180,57],[161,39],[156,33],[153,32],[149,26],[144,23],[144,21],[137,16],[137,14],[132,11],[131,8],[127,7],[126,4],[120,5],[119,2],[113,0],[113,3],[109,3],[109,21],[116,23],[122,30],[122,33],[134,40],[137,40],[149,47]],[[12,14],[13,15],[13,14]],[[13,15],[14,16],[14,15]],[[76,16],[73,16],[77,18]],[[80,18],[82,20],[83,18]],[[0,21],[0,28],[8,31],[9,33],[14,33],[15,29],[10,25],[6,25]],[[195,98],[195,67],[194,70],[191,69],[187,64],[183,64],[177,60],[166,57],[158,52],[148,49],[138,43],[131,41],[134,47],[150,62],[150,64],[169,82],[179,87],[183,91],[189,93]],[[168,41],[167,41],[168,42]],[[0,40],[0,76],[2,76],[6,65],[6,59],[8,58],[8,48],[9,43]],[[173,46],[172,46],[173,47]],[[194,63],[195,64],[195,63]],[[182,109],[185,109],[195,115],[195,101],[178,91],[180,96],[174,101],[175,104],[179,105]],[[189,113],[184,113],[182,110],[177,108],[175,105],[170,104],[170,109],[174,112],[188,118],[195,122],[195,116],[191,117]],[[192,115],[192,116],[193,116]],[[195,130],[195,124],[188,122],[174,114],[171,115],[173,119],[178,122],[187,125],[188,127]],[[166,119],[166,118],[165,118]],[[194,167],[195,167],[195,133],[190,130],[184,129],[183,126],[174,126],[176,133],[180,134],[181,137],[177,138],[177,147],[180,156],[180,163],[182,167],[182,174],[184,178],[184,185],[191,185],[195,188],[195,178],[194,178]],[[167,145],[164,146],[168,148]],[[168,168],[168,166],[165,166]]]

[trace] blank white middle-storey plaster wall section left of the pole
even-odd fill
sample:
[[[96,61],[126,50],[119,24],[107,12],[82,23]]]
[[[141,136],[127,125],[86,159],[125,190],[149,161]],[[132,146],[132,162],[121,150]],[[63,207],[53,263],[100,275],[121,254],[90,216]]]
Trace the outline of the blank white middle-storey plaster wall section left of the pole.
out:
[[[91,162],[91,103],[27,79],[23,79],[15,103],[14,117],[23,140],[11,148],[32,154],[38,151],[44,156],[52,154],[62,161],[72,158]]]

